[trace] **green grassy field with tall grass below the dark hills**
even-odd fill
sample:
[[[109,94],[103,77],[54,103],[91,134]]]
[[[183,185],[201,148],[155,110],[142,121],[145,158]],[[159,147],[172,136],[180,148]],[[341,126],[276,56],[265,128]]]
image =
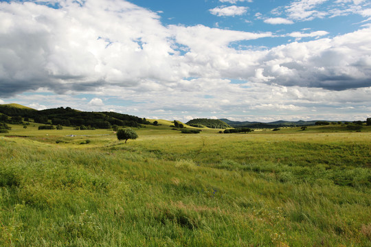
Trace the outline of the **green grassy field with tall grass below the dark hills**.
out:
[[[0,246],[371,246],[370,127],[159,124],[0,134]]]

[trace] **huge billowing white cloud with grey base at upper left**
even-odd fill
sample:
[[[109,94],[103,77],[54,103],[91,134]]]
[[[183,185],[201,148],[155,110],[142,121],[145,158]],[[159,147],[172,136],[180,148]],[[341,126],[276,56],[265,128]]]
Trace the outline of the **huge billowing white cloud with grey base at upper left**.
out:
[[[58,4],[0,3],[1,95],[171,78],[168,31],[154,12],[118,0]]]

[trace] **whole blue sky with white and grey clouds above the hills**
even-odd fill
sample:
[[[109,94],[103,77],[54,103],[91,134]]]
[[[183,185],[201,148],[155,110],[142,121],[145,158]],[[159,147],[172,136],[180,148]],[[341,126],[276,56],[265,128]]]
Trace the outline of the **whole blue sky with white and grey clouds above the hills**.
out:
[[[0,104],[366,120],[370,0],[0,0]]]

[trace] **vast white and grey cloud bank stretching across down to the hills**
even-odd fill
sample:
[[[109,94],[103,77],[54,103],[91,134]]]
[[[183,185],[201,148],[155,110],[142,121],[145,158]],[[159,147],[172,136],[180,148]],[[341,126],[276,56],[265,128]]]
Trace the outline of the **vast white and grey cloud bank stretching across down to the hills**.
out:
[[[288,118],[304,118],[316,107],[335,119],[350,114],[344,105],[353,107],[354,116],[370,106],[371,27],[272,48],[235,49],[231,43],[274,35],[203,25],[165,27],[156,13],[115,0],[87,0],[81,7],[64,1],[60,10],[3,2],[0,15],[0,95],[33,90],[34,95],[17,98],[25,105],[38,102],[36,108],[115,109],[185,120],[231,112],[243,119],[244,110],[252,118],[259,110],[278,120],[278,109]],[[303,30],[284,36],[327,34]],[[65,95],[42,95],[45,91]],[[87,103],[74,97],[79,92],[96,98]],[[106,97],[118,103],[104,104]],[[125,106],[120,100],[140,104]],[[335,114],[334,108],[344,112]]]

